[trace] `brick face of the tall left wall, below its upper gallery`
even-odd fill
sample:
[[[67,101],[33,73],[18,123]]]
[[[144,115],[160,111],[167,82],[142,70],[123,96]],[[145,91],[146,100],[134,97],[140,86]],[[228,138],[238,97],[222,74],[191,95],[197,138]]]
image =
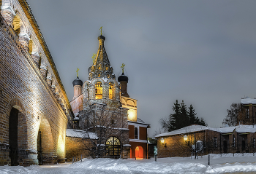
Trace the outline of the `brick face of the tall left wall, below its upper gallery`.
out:
[[[67,116],[56,100],[39,68],[23,49],[18,36],[0,15],[0,143],[9,142],[9,119],[13,107],[18,108],[18,146],[20,165],[37,164],[37,134],[42,119],[49,122],[52,133],[53,151],[59,160],[64,160],[64,139]],[[59,91],[61,92],[61,88]],[[62,92],[64,93],[64,91]],[[62,94],[63,95],[63,94]],[[62,142],[59,141],[61,136]],[[0,145],[1,145],[0,144]],[[58,149],[61,149],[59,150]],[[58,153],[59,152],[59,153]],[[8,152],[0,149],[0,165],[10,163]]]

